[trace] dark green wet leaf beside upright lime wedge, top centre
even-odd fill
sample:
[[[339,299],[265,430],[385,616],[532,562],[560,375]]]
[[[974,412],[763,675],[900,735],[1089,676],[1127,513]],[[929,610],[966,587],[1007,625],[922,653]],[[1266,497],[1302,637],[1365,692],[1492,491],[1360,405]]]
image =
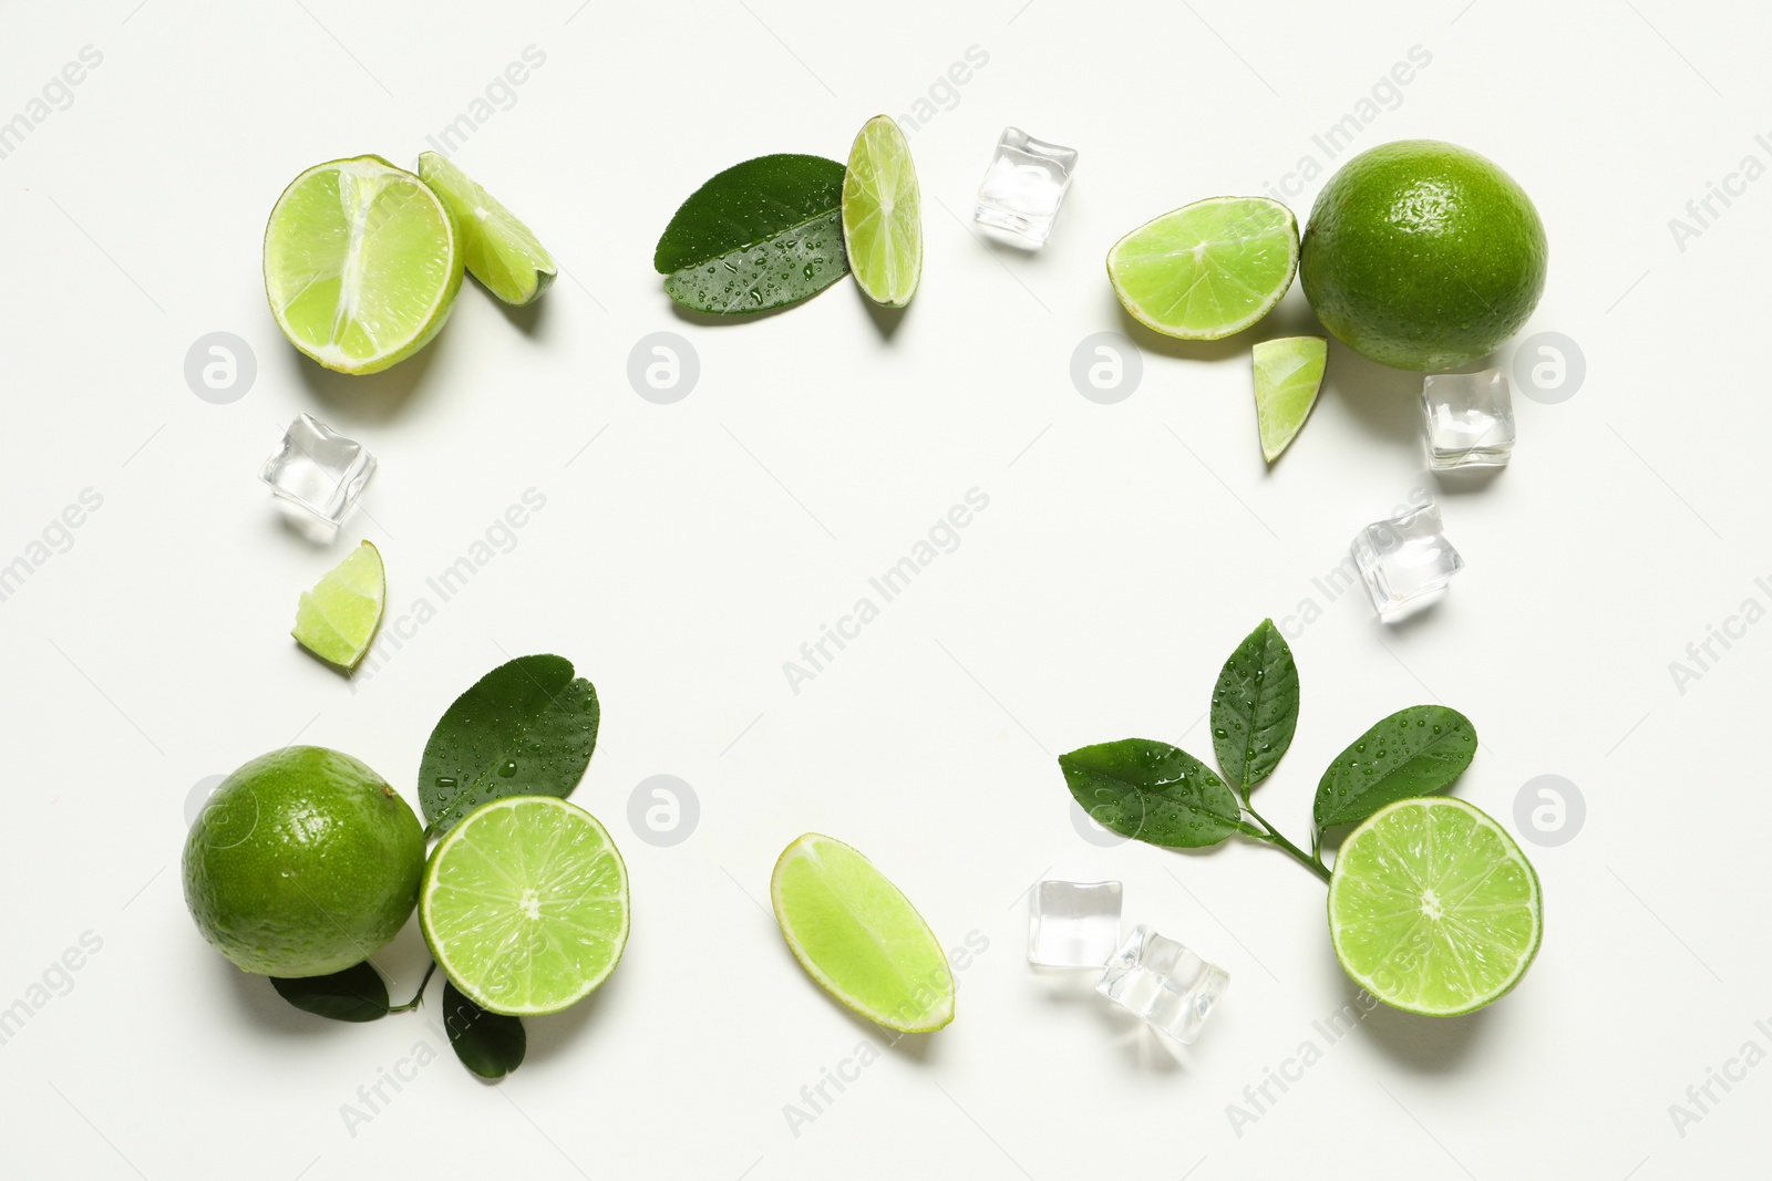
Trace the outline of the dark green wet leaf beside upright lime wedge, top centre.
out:
[[[714,315],[767,312],[849,273],[843,166],[822,156],[758,156],[689,195],[652,253],[664,292]]]

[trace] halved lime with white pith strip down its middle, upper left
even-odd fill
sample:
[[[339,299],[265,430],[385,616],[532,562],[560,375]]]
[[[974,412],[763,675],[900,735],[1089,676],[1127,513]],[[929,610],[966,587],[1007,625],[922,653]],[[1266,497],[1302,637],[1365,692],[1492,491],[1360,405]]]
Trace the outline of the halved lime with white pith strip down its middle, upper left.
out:
[[[424,349],[448,319],[461,267],[448,209],[381,156],[308,168],[264,227],[276,326],[340,374],[374,374]]]

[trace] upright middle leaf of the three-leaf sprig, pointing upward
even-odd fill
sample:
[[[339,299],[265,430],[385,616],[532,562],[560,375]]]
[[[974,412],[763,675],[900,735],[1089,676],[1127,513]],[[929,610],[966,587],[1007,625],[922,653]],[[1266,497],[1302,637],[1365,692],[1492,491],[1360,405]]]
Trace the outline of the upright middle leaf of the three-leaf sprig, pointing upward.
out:
[[[1212,751],[1244,791],[1274,774],[1299,726],[1299,666],[1272,620],[1249,632],[1212,689]]]

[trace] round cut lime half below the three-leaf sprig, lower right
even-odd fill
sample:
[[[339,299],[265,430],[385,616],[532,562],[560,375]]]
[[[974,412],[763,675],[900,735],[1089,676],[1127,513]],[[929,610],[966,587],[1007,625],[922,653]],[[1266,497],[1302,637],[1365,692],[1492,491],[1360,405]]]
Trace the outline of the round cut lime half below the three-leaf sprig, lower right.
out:
[[[1398,800],[1341,845],[1329,935],[1347,974],[1389,1006],[1426,1016],[1481,1009],[1538,954],[1538,875],[1471,804]]]

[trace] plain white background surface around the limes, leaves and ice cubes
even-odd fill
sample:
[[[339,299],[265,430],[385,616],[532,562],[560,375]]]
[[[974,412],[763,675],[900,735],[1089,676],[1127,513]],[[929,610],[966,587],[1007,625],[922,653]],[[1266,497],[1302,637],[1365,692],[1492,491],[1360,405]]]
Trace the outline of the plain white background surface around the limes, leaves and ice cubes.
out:
[[[1714,202],[1683,250],[1669,218],[1744,156],[1772,163],[1754,142],[1772,131],[1765,14],[1019,4],[7,5],[0,119],[82,46],[103,53],[0,159],[0,563],[83,489],[103,498],[0,602],[0,1006],[83,933],[103,942],[0,1045],[7,1176],[1763,1169],[1772,1066],[1714,1085],[1721,1101],[1683,1135],[1669,1105],[1749,1039],[1772,1050],[1754,1027],[1772,1018],[1756,751],[1772,627],[1714,645],[1721,660],[1683,692],[1669,662],[1744,598],[1772,606],[1754,584],[1772,575],[1756,359],[1772,182]],[[436,343],[379,377],[298,358],[259,273],[284,184],[358,152],[409,165],[532,44],[546,62],[455,159],[558,255],[546,301],[509,313],[470,282]],[[987,64],[937,87],[911,133],[927,264],[890,336],[849,282],[755,322],[672,310],[652,246],[693,188],[764,152],[843,158],[868,115],[911,115],[971,46]],[[1180,347],[1125,320],[1102,255],[1166,209],[1325,161],[1313,135],[1412,46],[1432,62],[1356,147],[1444,138],[1522,182],[1550,237],[1527,333],[1572,338],[1586,381],[1556,405],[1517,397],[1499,478],[1434,485],[1469,568],[1386,630],[1363,595],[1329,602],[1313,577],[1426,478],[1419,379],[1336,345],[1315,416],[1269,471],[1247,351],[1313,331],[1302,294],[1242,338]],[[1037,255],[969,230],[1008,122],[1081,151]],[[1325,179],[1292,202],[1301,223]],[[230,405],[184,379],[211,331],[257,358]],[[700,358],[675,405],[626,375],[654,331]],[[1143,351],[1116,405],[1069,375],[1097,331]],[[381,459],[330,551],[282,529],[253,478],[299,411]],[[989,508],[959,549],[790,692],[783,660],[975,487]],[[546,508],[438,604],[424,579],[526,489]],[[360,536],[386,556],[390,620],[420,597],[438,613],[351,683],[287,629],[298,591]],[[1327,1045],[1313,1022],[1354,990],[1315,878],[1249,843],[1100,848],[1069,820],[1058,753],[1141,735],[1209,754],[1219,662],[1306,597],[1324,616],[1294,627],[1304,708],[1260,790],[1271,820],[1302,839],[1320,768],[1430,699],[1480,728],[1457,790],[1503,823],[1535,776],[1586,799],[1572,841],[1524,845],[1543,951],[1478,1016],[1379,1011]],[[574,799],[622,845],[634,928],[597,997],[532,1022],[528,1062],[487,1087],[427,1025],[434,1006],[337,1025],[236,972],[195,933],[177,857],[193,784],[296,738],[363,758],[416,802],[432,722],[525,652],[571,657],[602,698]],[[672,848],[627,822],[654,774],[700,800]],[[776,853],[808,829],[861,846],[946,946],[975,933],[989,949],[959,976],[950,1029],[884,1050],[794,1135],[783,1107],[803,1085],[863,1039],[884,1046],[762,910]],[[1129,921],[1230,970],[1189,1054],[1028,970],[1022,892],[1042,875],[1123,880]],[[383,961],[408,995],[425,963],[415,928]],[[1235,1126],[1228,1105],[1306,1039],[1322,1059]],[[441,1057],[385,1087],[353,1135],[342,1105],[420,1043]]]

